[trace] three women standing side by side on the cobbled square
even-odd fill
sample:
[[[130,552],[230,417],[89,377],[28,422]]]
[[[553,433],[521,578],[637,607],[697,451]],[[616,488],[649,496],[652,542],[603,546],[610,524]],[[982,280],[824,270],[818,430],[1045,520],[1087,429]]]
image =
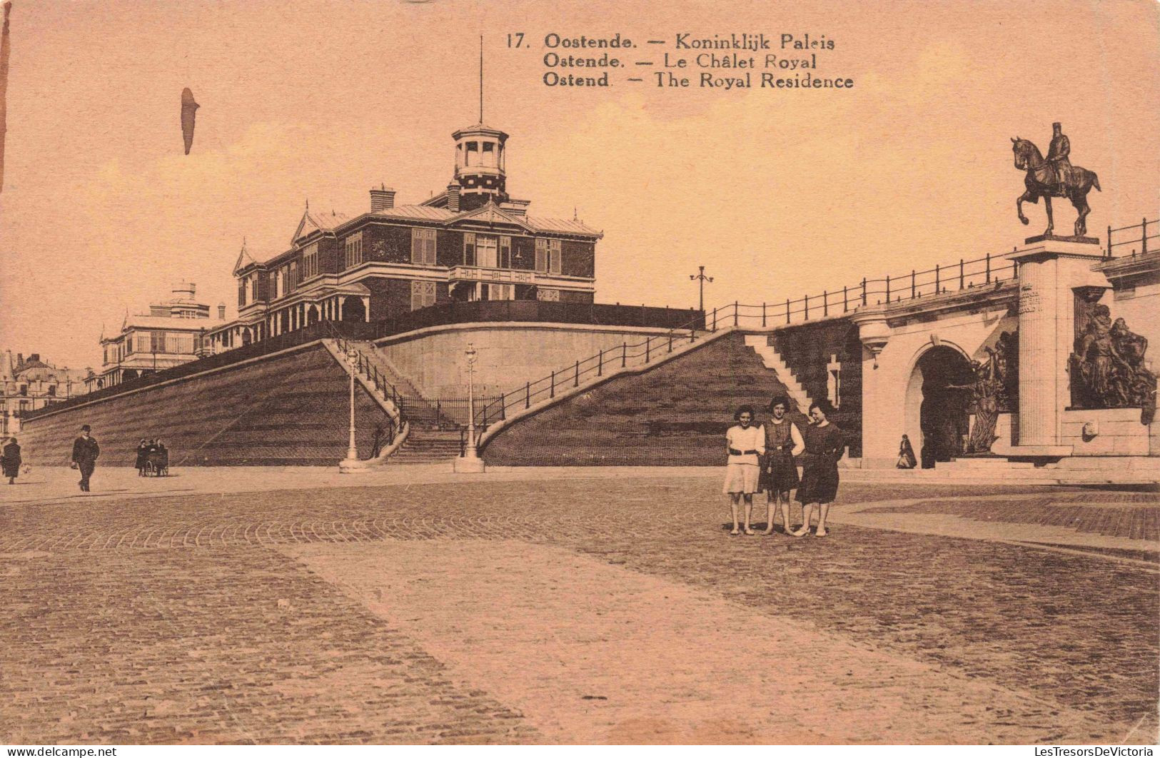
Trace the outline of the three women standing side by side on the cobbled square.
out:
[[[733,516],[731,534],[754,534],[749,527],[753,516],[753,494],[766,490],[766,530],[774,532],[774,508],[781,504],[782,523],[786,534],[804,537],[810,533],[814,506],[818,506],[818,537],[826,537],[829,530],[826,519],[829,504],[838,496],[838,461],[846,449],[842,431],[828,418],[829,404],[815,402],[810,406],[810,427],[803,436],[786,417],[790,401],[784,395],[775,396],[769,403],[771,417],[764,425],[756,424],[752,406],[741,406],[734,414],[737,425],[726,432],[728,464],[725,473],[725,493],[730,496]],[[798,479],[795,458],[802,461]],[[790,527],[790,491],[797,490],[802,503],[802,526]],[[745,500],[745,520],[739,523],[741,500]]]

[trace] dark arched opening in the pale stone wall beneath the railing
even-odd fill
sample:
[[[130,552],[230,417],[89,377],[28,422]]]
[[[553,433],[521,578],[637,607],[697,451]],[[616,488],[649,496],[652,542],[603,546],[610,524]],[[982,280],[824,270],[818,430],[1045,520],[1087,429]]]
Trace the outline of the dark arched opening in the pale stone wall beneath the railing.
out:
[[[906,388],[906,430],[923,468],[963,454],[973,380],[971,362],[947,344],[926,350]]]

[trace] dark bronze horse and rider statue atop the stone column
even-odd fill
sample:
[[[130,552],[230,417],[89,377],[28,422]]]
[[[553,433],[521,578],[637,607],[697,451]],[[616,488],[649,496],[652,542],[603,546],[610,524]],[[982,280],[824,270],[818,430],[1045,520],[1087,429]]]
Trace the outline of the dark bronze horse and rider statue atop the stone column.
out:
[[[1072,152],[1071,143],[1064,134],[1059,122],[1051,125],[1051,146],[1047,148],[1047,158],[1044,158],[1039,148],[1029,139],[1015,137],[1012,150],[1015,152],[1015,168],[1027,172],[1023,184],[1027,191],[1015,201],[1015,210],[1018,211],[1018,220],[1027,224],[1023,216],[1023,202],[1038,203],[1042,197],[1047,207],[1047,229],[1043,233],[1049,236],[1054,228],[1051,218],[1051,198],[1066,197],[1075,206],[1078,213],[1075,218],[1075,236],[1083,236],[1087,233],[1087,224],[1083,219],[1092,211],[1087,204],[1087,194],[1092,188],[1100,190],[1100,178],[1095,172],[1089,172],[1082,166],[1072,166],[1068,155]],[[1103,190],[1100,190],[1103,191]]]

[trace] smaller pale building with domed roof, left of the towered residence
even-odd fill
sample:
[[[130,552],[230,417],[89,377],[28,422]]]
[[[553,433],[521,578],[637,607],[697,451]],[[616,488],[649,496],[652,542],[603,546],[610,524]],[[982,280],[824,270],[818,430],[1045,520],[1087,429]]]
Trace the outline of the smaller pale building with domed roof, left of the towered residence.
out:
[[[121,330],[101,336],[101,371],[86,377],[87,392],[119,385],[210,354],[208,334],[225,323],[225,304],[195,300],[191,282],[174,285],[173,298],[151,305],[148,313],[125,315]]]

